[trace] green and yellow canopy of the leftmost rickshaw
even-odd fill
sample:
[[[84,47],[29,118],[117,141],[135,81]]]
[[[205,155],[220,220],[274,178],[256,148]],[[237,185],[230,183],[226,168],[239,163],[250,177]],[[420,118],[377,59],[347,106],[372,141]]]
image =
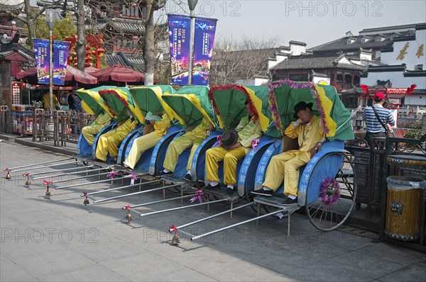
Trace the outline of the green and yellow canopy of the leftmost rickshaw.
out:
[[[114,86],[112,86],[114,87]],[[107,106],[105,106],[104,101],[99,95],[98,91],[102,89],[109,89],[111,86],[101,86],[94,89],[78,89],[75,91],[75,94],[80,97],[82,100],[82,108],[84,111],[91,115],[99,115],[99,113],[108,113],[109,115],[114,116],[114,113],[109,111]]]

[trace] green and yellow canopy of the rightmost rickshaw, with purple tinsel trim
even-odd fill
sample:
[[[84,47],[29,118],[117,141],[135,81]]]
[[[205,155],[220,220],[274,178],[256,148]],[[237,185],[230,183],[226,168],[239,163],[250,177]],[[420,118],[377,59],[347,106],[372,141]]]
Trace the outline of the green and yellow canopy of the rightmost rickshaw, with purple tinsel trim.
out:
[[[319,115],[329,140],[352,140],[351,113],[340,101],[333,86],[290,80],[274,82],[268,101],[275,126],[284,130],[295,120],[294,106],[300,101],[313,103],[312,110]]]

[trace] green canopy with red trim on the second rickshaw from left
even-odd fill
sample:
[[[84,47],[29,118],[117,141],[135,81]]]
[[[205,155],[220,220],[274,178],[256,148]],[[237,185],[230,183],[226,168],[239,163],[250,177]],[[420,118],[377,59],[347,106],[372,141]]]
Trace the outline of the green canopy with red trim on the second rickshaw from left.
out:
[[[141,111],[133,103],[133,99],[129,93],[127,87],[111,87],[107,86],[106,89],[98,91],[99,95],[104,100],[107,108],[114,113],[119,121],[128,119],[129,113],[127,110],[133,113],[133,116],[137,118],[141,123],[143,122],[143,115]]]

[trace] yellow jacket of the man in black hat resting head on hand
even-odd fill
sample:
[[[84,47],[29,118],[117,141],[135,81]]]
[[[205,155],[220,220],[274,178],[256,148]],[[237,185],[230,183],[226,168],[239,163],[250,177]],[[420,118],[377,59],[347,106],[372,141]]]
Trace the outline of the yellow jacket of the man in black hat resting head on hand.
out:
[[[288,128],[285,128],[284,134],[292,139],[298,137],[299,151],[308,152],[324,138],[324,128],[322,128],[320,117],[314,115],[310,125],[300,124],[295,128],[291,123]]]

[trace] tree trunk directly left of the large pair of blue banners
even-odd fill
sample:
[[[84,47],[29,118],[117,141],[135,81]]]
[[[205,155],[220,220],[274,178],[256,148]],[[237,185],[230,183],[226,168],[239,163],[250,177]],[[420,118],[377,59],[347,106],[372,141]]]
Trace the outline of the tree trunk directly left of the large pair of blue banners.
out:
[[[156,0],[146,1],[146,22],[145,22],[145,44],[143,48],[143,62],[145,62],[145,85],[154,84],[154,64],[155,64],[155,25],[154,11]]]

